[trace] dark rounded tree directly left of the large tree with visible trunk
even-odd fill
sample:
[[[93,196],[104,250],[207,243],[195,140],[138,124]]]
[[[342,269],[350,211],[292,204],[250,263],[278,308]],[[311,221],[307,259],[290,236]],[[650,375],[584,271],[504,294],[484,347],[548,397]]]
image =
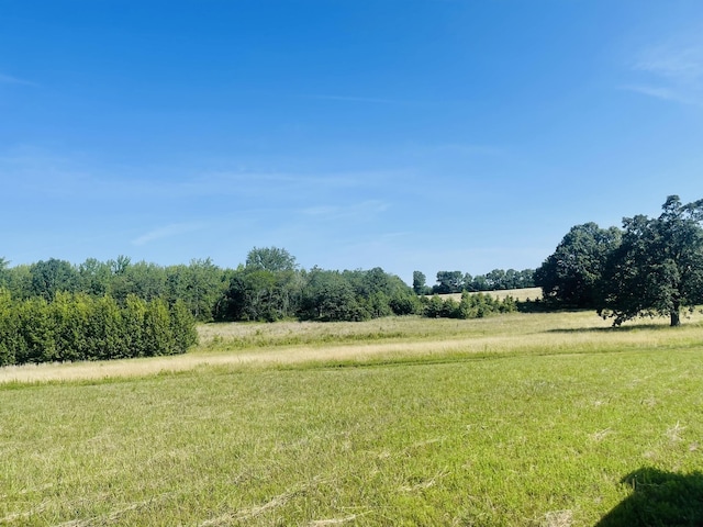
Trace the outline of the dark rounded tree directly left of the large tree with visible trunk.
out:
[[[535,271],[544,299],[565,306],[593,307],[605,261],[620,243],[616,227],[604,229],[595,223],[571,227]]]

